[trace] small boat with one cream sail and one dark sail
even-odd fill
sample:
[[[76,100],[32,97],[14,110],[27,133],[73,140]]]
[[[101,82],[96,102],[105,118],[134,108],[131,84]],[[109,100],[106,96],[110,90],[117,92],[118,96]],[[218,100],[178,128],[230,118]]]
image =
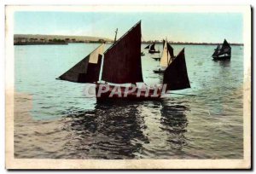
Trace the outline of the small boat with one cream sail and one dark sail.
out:
[[[164,40],[164,48],[160,58],[160,68],[158,70],[153,70],[154,73],[165,73],[166,67],[168,67],[172,61],[175,59],[173,54],[172,46]]]

